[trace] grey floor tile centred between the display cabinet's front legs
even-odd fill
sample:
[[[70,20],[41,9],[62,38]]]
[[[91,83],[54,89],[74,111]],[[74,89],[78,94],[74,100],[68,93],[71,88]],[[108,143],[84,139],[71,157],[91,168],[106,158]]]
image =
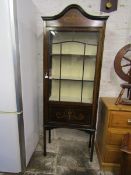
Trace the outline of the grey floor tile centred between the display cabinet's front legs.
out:
[[[59,141],[57,165],[68,167],[89,167],[88,144],[86,142]]]

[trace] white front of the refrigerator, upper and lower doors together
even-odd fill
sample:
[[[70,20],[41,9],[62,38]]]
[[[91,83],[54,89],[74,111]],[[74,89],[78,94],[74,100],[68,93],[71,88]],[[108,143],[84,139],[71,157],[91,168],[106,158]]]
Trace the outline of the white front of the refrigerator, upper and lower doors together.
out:
[[[20,145],[9,1],[0,2],[0,172],[20,172]]]

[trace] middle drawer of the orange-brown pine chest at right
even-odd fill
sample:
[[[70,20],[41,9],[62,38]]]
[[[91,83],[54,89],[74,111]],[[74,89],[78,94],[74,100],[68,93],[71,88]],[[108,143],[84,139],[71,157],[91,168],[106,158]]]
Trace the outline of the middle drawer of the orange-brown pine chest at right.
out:
[[[129,129],[108,129],[106,143],[121,146],[123,136],[129,132]]]

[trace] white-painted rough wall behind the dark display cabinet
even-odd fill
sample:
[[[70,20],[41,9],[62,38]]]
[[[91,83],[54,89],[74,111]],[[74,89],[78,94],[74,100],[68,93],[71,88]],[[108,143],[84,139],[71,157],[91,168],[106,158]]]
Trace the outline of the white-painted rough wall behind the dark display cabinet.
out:
[[[33,0],[37,10],[37,39],[38,39],[38,60],[39,60],[39,112],[40,123],[43,117],[43,25],[41,16],[52,16],[61,12],[67,5],[78,4],[87,13],[92,15],[109,15],[106,27],[102,75],[100,84],[100,96],[117,96],[120,90],[121,80],[114,71],[114,58],[118,50],[131,40],[131,1],[119,0],[118,9],[109,14],[100,12],[101,0]],[[42,129],[42,124],[41,124]],[[76,134],[77,135],[77,134]]]

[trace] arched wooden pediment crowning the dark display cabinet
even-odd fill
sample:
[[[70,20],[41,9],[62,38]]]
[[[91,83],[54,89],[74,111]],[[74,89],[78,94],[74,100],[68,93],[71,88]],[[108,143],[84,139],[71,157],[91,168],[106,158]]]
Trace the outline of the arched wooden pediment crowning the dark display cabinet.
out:
[[[47,26],[68,27],[101,27],[109,16],[93,16],[86,13],[79,5],[72,4],[55,16],[42,16]]]

